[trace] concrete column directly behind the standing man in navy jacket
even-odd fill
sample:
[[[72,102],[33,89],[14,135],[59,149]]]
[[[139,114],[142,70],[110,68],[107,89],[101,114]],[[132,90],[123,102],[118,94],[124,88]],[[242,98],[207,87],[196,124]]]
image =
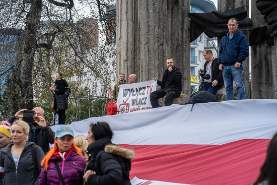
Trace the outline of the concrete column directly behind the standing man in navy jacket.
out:
[[[248,0],[241,0],[241,1],[235,1],[235,0],[219,0],[218,1],[218,11],[221,12],[228,12],[230,10],[244,7],[245,10],[247,10],[249,15],[249,2]],[[227,23],[226,23],[227,27]],[[240,26],[238,27],[240,28]],[[243,32],[247,39],[249,38],[249,32]],[[249,40],[249,39],[248,39]],[[218,39],[218,46],[220,46],[221,38]],[[243,82],[245,86],[245,99],[250,98],[250,67],[249,67],[249,56],[243,61]]]

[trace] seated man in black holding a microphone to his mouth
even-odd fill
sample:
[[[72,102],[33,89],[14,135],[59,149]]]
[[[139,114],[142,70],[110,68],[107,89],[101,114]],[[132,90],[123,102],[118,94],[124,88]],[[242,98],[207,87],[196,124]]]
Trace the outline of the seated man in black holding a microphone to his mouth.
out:
[[[166,95],[165,106],[172,105],[173,98],[180,96],[182,91],[182,73],[180,69],[176,68],[173,58],[167,58],[166,66],[168,67],[163,76],[163,80],[158,78],[157,84],[161,86],[161,89],[156,90],[150,94],[150,101],[153,108],[160,107],[158,99]]]

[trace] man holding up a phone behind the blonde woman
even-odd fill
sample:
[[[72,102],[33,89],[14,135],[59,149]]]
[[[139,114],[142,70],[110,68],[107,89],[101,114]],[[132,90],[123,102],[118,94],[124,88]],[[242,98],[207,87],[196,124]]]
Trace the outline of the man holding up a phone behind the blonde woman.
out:
[[[8,122],[12,124],[15,119],[23,117],[23,112],[27,109],[19,110],[15,115],[8,119]],[[49,143],[54,143],[55,133],[46,125],[44,110],[41,107],[33,108],[35,111],[34,121],[29,123],[29,142],[34,142],[36,145],[40,146],[44,154],[49,151]]]

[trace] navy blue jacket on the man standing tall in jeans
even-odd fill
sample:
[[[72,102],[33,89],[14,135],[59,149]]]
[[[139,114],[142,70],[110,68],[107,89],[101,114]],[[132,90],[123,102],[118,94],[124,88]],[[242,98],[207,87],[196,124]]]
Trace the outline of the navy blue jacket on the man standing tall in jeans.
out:
[[[226,66],[241,63],[249,55],[247,38],[243,32],[237,29],[233,38],[229,40],[229,33],[225,35],[220,43],[218,64]]]

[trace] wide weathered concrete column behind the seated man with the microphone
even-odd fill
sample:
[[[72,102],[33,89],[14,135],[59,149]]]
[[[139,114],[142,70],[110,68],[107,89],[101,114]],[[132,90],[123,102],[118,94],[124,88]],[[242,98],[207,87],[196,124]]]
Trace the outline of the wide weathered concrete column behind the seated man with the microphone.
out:
[[[172,57],[183,74],[182,93],[190,95],[189,10],[189,0],[117,1],[117,73],[135,73],[138,82],[161,79]]]

